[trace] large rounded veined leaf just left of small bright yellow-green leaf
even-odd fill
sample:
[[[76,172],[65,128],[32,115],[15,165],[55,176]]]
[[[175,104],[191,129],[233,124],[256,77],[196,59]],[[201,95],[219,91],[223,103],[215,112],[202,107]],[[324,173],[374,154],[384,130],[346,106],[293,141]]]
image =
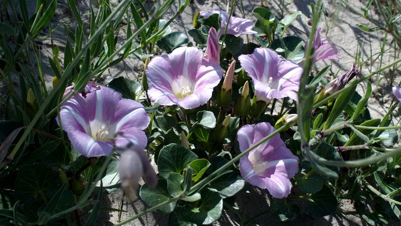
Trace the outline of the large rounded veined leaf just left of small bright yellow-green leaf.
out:
[[[160,176],[167,179],[172,172],[180,174],[195,159],[197,156],[190,150],[178,144],[169,144],[160,150],[157,168]]]

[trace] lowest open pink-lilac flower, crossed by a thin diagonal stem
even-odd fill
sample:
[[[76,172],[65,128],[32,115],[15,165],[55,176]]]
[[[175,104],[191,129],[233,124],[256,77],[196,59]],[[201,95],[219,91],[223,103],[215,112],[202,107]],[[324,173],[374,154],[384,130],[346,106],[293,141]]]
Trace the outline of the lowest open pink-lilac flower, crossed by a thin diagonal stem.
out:
[[[243,126],[238,131],[241,152],[274,131],[269,123]],[[275,198],[284,198],[291,192],[290,178],[298,172],[298,157],[276,134],[240,159],[240,171],[252,185],[267,189]]]

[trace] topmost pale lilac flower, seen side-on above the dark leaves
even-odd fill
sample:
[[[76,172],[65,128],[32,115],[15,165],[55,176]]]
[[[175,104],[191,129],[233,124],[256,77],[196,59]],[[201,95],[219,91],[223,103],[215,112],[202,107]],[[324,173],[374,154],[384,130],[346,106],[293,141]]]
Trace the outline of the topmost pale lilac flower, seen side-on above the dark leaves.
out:
[[[221,10],[214,10],[212,12],[200,11],[200,16],[204,18],[208,18],[213,14],[220,14],[221,29],[219,37],[221,37],[224,34],[224,30],[226,30],[229,14]],[[231,16],[226,34],[235,35],[237,37],[243,34],[257,34],[256,31],[252,30],[254,26],[255,23],[251,20]]]

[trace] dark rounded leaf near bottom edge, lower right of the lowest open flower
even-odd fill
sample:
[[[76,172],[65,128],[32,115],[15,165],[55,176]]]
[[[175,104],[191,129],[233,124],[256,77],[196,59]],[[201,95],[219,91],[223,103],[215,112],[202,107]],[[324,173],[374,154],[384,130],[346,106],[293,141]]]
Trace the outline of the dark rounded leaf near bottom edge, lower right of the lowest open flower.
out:
[[[327,216],[336,210],[337,199],[327,186],[305,199],[305,211],[311,216]]]

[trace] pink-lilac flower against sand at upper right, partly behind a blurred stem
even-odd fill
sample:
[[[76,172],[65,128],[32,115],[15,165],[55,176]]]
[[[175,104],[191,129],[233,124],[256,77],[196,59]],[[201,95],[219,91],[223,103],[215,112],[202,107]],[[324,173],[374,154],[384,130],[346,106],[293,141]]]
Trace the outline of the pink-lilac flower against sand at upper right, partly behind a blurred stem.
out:
[[[329,43],[325,38],[320,37],[320,31],[322,29],[318,28],[316,30],[315,37],[312,42],[312,48],[313,50],[313,63],[319,60],[325,60],[325,59],[341,59],[340,57],[337,56],[338,49],[337,47]],[[308,47],[307,44],[305,44],[305,49]]]

